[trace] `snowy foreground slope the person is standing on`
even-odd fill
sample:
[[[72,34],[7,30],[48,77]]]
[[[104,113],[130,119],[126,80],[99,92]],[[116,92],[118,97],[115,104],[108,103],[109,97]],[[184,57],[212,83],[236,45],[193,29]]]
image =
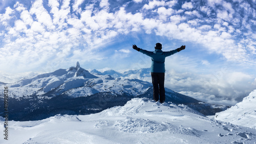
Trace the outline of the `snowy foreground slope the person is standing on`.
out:
[[[255,129],[147,98],[134,98],[96,114],[10,121],[9,133],[9,140],[1,138],[0,143],[255,143],[256,139]]]

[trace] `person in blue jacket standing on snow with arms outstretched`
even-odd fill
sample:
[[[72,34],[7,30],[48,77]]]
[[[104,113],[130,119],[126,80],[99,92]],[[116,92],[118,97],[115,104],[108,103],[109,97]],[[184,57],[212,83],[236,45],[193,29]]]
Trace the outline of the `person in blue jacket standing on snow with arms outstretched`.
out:
[[[152,60],[151,77],[152,77],[152,84],[153,84],[153,98],[157,102],[159,100],[159,95],[160,95],[160,103],[163,103],[165,101],[165,90],[164,90],[165,57],[168,57],[177,52],[180,52],[181,50],[184,50],[185,45],[182,45],[176,50],[168,51],[168,52],[162,51],[161,43],[156,43],[154,52],[142,50],[139,47],[137,47],[135,44],[133,44],[133,49],[151,57],[151,60]]]

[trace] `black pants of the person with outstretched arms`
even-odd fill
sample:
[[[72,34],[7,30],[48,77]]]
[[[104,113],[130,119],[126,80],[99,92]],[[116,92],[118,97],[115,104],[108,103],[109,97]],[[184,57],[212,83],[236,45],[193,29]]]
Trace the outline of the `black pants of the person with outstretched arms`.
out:
[[[160,95],[160,103],[165,101],[164,73],[151,73],[153,84],[153,98],[157,102]]]

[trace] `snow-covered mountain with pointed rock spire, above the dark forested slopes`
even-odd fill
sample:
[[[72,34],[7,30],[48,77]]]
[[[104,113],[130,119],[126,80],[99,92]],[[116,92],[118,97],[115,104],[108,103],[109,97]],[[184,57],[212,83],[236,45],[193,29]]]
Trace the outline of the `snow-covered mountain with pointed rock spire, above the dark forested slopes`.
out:
[[[113,70],[114,71],[114,70]],[[60,94],[69,97],[85,97],[99,92],[114,92],[117,94],[129,93],[139,95],[144,93],[151,84],[140,80],[114,79],[110,75],[92,75],[88,70],[76,66],[68,69],[58,69],[53,73],[41,74],[21,79],[9,85],[13,89],[10,97],[29,98],[31,95],[45,97]],[[23,89],[28,93],[25,95]]]

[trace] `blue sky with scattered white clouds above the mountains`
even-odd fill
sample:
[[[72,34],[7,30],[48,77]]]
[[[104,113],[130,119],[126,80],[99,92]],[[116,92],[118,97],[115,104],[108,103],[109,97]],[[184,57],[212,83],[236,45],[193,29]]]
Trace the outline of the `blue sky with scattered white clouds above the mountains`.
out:
[[[160,42],[163,51],[186,45],[166,58],[166,87],[233,105],[256,88],[255,9],[255,0],[4,0],[0,81],[77,61],[89,70],[147,68],[151,59],[132,44],[154,51]]]

